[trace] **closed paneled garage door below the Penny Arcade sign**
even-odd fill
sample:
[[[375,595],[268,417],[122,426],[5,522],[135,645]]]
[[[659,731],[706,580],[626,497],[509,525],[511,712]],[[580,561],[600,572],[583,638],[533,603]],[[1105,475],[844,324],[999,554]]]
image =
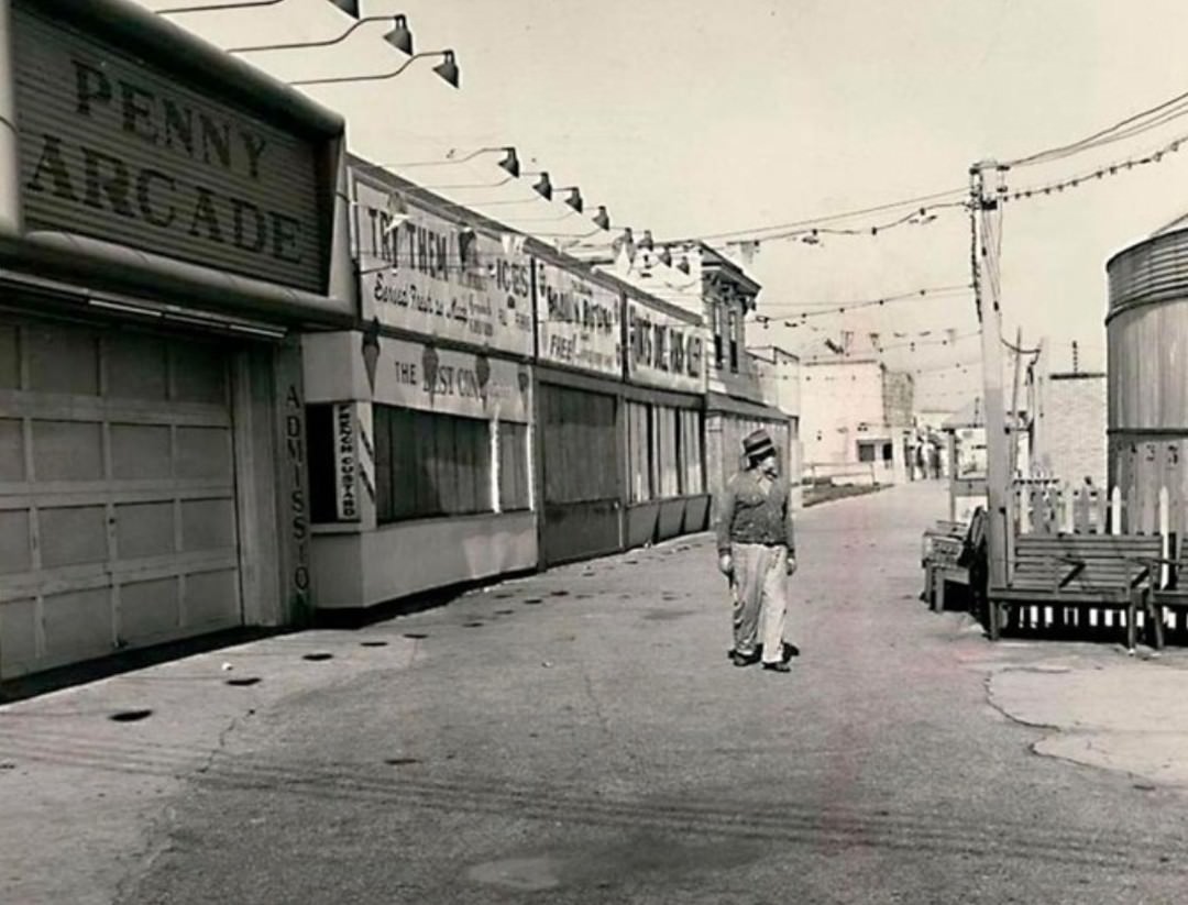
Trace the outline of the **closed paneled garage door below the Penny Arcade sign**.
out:
[[[228,355],[0,319],[0,676],[242,620]]]

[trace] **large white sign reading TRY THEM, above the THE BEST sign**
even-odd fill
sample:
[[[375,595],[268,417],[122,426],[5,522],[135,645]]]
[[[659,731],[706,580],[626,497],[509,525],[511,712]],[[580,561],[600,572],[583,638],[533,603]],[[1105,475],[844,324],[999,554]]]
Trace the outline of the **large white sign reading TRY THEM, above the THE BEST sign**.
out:
[[[514,355],[532,354],[531,261],[492,236],[354,175],[365,319]]]

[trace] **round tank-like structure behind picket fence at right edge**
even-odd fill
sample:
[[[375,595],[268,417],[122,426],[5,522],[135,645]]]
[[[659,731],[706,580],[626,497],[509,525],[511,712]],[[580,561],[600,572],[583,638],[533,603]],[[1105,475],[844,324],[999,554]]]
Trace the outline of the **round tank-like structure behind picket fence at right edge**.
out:
[[[1130,504],[1127,531],[1157,529],[1167,487],[1171,530],[1188,527],[1188,229],[1162,233],[1106,264],[1110,483]]]

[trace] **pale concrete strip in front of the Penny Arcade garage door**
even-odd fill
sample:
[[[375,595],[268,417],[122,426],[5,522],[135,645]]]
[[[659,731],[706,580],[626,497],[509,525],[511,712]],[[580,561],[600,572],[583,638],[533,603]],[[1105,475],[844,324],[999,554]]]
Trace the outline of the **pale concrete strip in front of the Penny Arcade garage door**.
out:
[[[168,803],[236,727],[293,696],[407,667],[416,644],[280,635],[0,708],[0,901],[118,900],[158,850]]]

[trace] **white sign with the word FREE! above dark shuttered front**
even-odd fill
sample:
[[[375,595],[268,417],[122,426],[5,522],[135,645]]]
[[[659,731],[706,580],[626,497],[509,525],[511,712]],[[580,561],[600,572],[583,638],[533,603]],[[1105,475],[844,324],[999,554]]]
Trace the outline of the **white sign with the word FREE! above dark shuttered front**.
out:
[[[619,293],[544,261],[536,261],[535,274],[539,359],[621,376]]]

